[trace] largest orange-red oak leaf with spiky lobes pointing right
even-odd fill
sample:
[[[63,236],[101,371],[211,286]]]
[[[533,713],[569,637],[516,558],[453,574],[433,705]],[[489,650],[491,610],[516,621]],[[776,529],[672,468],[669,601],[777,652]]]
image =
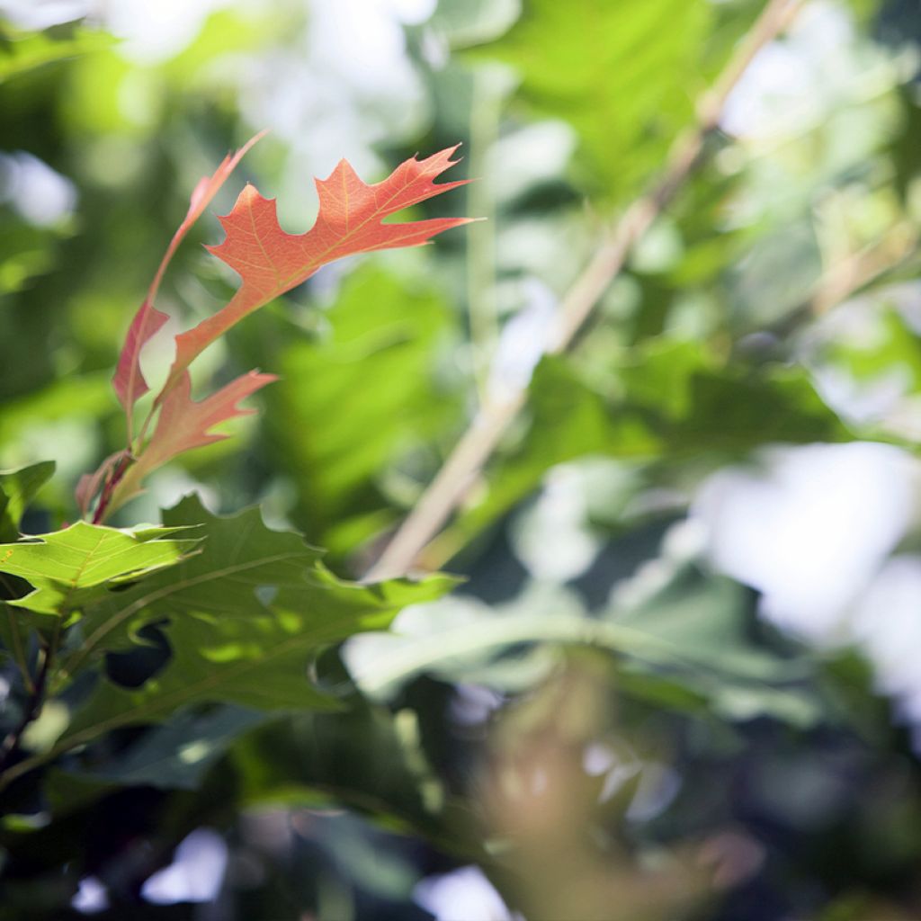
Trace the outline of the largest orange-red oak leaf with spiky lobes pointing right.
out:
[[[251,185],[220,221],[227,238],[209,249],[236,271],[242,284],[222,310],[176,337],[176,359],[158,399],[177,386],[192,359],[253,310],[300,285],[322,265],[357,252],[420,246],[436,234],[466,224],[469,217],[437,217],[405,224],[384,224],[403,208],[449,192],[470,180],[435,183],[457,162],[457,146],[424,160],[406,160],[384,181],[367,185],[345,160],[329,179],[316,180],[320,211],[307,233],[288,234],[278,224],[274,199],[262,198]]]

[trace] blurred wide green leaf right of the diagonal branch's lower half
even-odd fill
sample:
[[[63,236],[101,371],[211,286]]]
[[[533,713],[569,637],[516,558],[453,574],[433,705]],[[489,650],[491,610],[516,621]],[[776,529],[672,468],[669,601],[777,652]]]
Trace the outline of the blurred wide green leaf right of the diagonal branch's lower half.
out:
[[[851,437],[798,367],[725,364],[704,344],[661,338],[624,353],[608,376],[596,386],[571,359],[542,360],[527,432],[495,458],[478,501],[455,521],[450,545],[468,542],[544,472],[578,457],[717,466],[773,442]]]

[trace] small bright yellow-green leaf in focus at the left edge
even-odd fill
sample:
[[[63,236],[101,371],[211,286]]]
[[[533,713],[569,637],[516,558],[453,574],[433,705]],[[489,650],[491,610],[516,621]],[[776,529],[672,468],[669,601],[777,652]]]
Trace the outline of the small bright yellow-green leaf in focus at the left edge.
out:
[[[42,614],[84,608],[108,587],[178,563],[197,540],[164,539],[187,528],[120,530],[77,521],[35,539],[0,544],[0,572],[35,589],[8,603]]]

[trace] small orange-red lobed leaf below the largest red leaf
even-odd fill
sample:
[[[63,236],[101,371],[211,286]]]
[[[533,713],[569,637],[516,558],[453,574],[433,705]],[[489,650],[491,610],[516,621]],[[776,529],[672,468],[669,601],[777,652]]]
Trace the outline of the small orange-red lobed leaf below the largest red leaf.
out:
[[[179,383],[169,391],[160,407],[157,428],[144,452],[115,487],[108,512],[111,513],[140,493],[141,482],[157,467],[162,467],[184,451],[203,448],[204,445],[227,438],[227,435],[213,433],[211,429],[227,419],[255,413],[254,409],[240,409],[238,403],[273,380],[277,380],[274,374],[250,371],[230,381],[211,396],[196,402],[192,400],[189,372],[183,372]]]

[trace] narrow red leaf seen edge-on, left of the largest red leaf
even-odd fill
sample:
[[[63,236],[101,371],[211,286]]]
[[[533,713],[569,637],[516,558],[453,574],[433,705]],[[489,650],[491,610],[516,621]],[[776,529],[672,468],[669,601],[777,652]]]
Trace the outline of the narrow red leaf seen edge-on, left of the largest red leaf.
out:
[[[115,377],[112,379],[112,386],[115,388],[115,393],[119,402],[122,403],[128,419],[129,444],[134,440],[134,403],[144,396],[148,390],[147,382],[141,373],[141,349],[168,319],[165,313],[154,307],[154,299],[157,297],[157,291],[159,290],[160,282],[163,280],[163,275],[166,273],[167,266],[179,248],[182,239],[192,228],[192,225],[202,216],[204,209],[211,203],[227,177],[237,167],[239,161],[264,134],[264,131],[256,134],[244,146],[240,147],[237,153],[227,154],[227,157],[224,157],[224,161],[211,176],[204,176],[198,181],[192,192],[192,200],[189,203],[189,210],[185,219],[173,235],[173,239],[169,241],[169,247],[167,247],[163,260],[159,264],[157,274],[154,275],[154,280],[147,291],[144,303],[134,314],[134,320],[125,337],[118,367],[115,369]]]

